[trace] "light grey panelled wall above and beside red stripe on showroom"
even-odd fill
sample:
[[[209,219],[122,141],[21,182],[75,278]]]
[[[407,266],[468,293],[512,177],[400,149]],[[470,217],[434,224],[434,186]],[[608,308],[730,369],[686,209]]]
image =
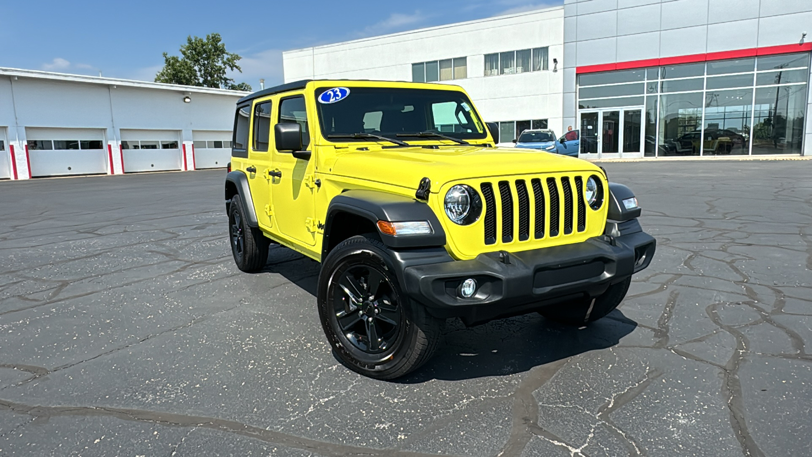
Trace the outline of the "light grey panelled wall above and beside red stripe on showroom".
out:
[[[576,67],[812,40],[810,0],[564,0],[564,120]],[[812,155],[812,90],[804,155]]]

